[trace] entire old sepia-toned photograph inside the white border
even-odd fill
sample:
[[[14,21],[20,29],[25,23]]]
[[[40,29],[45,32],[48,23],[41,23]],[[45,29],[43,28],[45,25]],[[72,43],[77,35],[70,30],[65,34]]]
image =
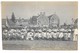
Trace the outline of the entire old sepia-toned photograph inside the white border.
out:
[[[1,2],[3,50],[78,50],[78,2]]]

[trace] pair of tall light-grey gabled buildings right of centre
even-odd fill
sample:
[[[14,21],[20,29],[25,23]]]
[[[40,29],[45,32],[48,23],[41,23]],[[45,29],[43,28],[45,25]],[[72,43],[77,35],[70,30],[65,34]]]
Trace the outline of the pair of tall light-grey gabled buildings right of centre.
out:
[[[56,14],[46,16],[45,12],[41,12],[37,18],[37,25],[38,26],[59,27],[59,23],[60,23],[60,20]]]

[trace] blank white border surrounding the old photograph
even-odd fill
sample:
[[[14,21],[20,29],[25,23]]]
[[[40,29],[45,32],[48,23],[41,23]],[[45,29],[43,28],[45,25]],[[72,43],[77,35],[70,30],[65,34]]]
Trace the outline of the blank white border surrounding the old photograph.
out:
[[[2,1],[6,1],[6,0],[2,0]],[[16,1],[16,0],[7,0],[7,1]],[[17,1],[26,1],[26,0],[17,0]],[[77,1],[77,0],[27,0],[27,1]],[[80,24],[79,24],[79,21],[80,21],[80,19],[79,19],[79,17],[80,17],[80,15],[79,15],[79,13],[80,13],[80,0],[78,0],[78,33],[79,33],[79,27],[80,27]],[[0,1],[0,9],[1,9],[1,1]],[[1,10],[0,10],[0,12],[1,12]],[[46,50],[46,51],[43,51],[43,50],[41,50],[41,51],[37,51],[37,50],[2,50],[2,32],[1,32],[1,29],[2,29],[2,27],[1,27],[1,25],[2,25],[2,22],[1,22],[1,13],[0,13],[0,53],[80,53],[79,52],[79,50],[80,50],[80,33],[78,34],[78,50],[72,50],[72,51],[65,51],[65,50]]]

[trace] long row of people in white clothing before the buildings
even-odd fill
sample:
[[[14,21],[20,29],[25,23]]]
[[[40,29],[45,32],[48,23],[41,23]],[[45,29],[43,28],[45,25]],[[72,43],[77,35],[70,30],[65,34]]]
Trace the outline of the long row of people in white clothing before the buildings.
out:
[[[4,29],[3,40],[71,40],[71,29]]]

